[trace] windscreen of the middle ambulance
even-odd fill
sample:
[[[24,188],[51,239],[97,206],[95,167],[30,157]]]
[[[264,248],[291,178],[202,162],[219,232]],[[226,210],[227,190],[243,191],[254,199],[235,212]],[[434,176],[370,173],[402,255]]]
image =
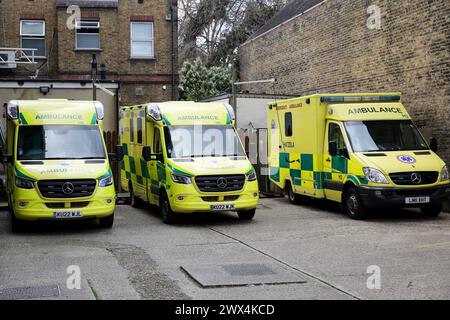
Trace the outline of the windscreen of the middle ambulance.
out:
[[[245,156],[232,126],[173,126],[164,134],[169,158]]]

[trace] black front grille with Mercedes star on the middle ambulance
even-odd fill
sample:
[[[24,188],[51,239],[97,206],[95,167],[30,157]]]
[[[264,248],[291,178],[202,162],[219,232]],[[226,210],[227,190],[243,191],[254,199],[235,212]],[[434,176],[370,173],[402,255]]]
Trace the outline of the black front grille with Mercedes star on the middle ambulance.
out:
[[[245,175],[198,176],[197,187],[202,192],[230,192],[244,188]]]

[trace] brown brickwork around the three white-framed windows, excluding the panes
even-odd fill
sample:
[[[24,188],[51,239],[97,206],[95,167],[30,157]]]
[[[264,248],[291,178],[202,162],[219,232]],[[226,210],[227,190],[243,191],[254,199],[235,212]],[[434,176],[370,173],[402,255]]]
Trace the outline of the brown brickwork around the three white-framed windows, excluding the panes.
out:
[[[0,79],[26,79],[41,67],[40,79],[89,81],[92,54],[105,63],[107,80],[122,82],[121,104],[135,104],[142,99],[165,101],[171,98],[172,52],[168,0],[119,0],[117,8],[81,8],[82,18],[100,21],[100,51],[75,50],[75,30],[66,26],[67,8],[56,7],[55,0],[0,0],[0,47],[20,47],[20,19],[45,19],[47,60],[37,65],[18,65],[17,69],[0,69]],[[176,5],[176,1],[173,1]],[[177,7],[175,7],[175,20]],[[154,24],[154,59],[131,59],[131,21]],[[178,38],[175,25],[173,38]],[[178,72],[175,42],[175,73]],[[99,65],[100,67],[100,65]],[[39,80],[39,78],[37,80]],[[177,79],[178,80],[178,79]],[[136,94],[132,87],[142,90]],[[165,86],[165,90],[163,89]],[[177,83],[175,84],[177,91]],[[142,93],[141,93],[142,92]],[[149,101],[147,100],[147,101]]]

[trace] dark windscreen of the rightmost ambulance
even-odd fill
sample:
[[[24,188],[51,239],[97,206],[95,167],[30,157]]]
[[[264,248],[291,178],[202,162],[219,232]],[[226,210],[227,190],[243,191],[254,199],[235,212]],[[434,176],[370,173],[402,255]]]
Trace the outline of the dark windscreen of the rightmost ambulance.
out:
[[[354,152],[428,150],[410,120],[351,121],[345,129]]]

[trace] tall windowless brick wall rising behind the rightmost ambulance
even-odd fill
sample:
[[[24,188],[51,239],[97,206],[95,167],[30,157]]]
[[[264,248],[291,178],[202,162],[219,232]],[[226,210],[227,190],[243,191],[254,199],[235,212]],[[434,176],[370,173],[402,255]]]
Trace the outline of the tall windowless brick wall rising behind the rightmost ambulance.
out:
[[[368,24],[374,8],[381,29]],[[250,93],[402,92],[450,163],[450,1],[294,0],[240,57],[242,81],[277,79]]]

